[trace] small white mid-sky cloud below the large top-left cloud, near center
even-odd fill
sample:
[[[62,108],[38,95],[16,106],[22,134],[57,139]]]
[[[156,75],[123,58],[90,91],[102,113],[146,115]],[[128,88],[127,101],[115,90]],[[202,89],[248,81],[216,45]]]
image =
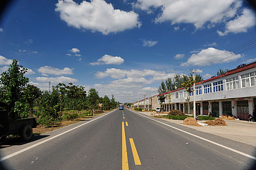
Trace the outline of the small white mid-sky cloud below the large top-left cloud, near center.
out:
[[[101,58],[97,60],[97,62],[90,63],[90,65],[109,65],[109,64],[116,64],[120,65],[124,63],[124,59],[118,56],[111,56],[108,54],[105,54]]]

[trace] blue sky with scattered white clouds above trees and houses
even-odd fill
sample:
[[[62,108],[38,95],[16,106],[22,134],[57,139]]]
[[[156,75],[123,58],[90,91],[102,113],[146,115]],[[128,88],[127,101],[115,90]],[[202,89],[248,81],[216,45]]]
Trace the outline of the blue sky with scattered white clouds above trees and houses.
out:
[[[73,82],[135,102],[255,36],[255,12],[241,0],[17,0],[0,20],[0,72],[17,59],[42,90]],[[235,52],[200,74],[254,62],[255,53]]]

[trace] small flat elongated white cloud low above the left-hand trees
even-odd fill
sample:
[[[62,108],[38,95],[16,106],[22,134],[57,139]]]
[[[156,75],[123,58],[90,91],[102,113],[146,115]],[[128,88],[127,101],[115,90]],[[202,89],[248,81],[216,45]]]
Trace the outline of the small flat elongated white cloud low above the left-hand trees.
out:
[[[51,66],[44,66],[40,67],[37,69],[39,73],[42,73],[45,75],[50,74],[50,75],[63,75],[63,74],[73,74],[73,69],[72,68],[52,68]]]

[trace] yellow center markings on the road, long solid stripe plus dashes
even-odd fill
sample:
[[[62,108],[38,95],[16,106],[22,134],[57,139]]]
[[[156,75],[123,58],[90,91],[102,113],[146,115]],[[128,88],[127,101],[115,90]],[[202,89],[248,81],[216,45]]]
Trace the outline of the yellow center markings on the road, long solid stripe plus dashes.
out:
[[[128,123],[126,121],[126,126],[128,126]],[[134,158],[135,165],[141,165],[141,161],[139,158],[139,155],[137,153],[133,138],[129,138],[130,145],[131,145],[131,151]],[[128,166],[128,156],[127,156],[127,145],[126,145],[126,134],[125,134],[125,122],[122,122],[122,169],[123,170],[129,170]]]

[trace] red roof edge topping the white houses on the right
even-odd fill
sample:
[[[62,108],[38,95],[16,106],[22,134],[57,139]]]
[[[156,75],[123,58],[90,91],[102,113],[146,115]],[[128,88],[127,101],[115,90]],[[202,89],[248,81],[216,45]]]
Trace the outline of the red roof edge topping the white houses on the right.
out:
[[[224,74],[221,74],[219,76],[214,76],[210,79],[207,79],[207,80],[203,80],[199,83],[196,83],[195,85],[199,85],[199,84],[202,84],[202,83],[206,83],[206,82],[210,82],[212,80],[216,80],[216,79],[219,79],[221,77],[224,77],[224,76],[227,76],[227,75],[231,75],[231,74],[235,74],[235,73],[238,73],[240,71],[244,71],[244,70],[247,70],[247,69],[250,69],[250,68],[255,68],[256,67],[256,62],[253,62],[253,63],[250,63],[250,64],[241,64],[239,65],[237,68],[235,69],[232,69],[232,70],[228,70],[227,72],[225,72]],[[158,96],[162,96],[162,95],[165,95],[165,94],[168,94],[168,93],[172,93],[172,92],[175,92],[175,91],[179,91],[181,89],[183,89],[184,87],[182,88],[179,88],[179,89],[176,89],[176,90],[173,90],[173,91],[168,91],[168,92],[165,92],[165,93],[162,93],[162,94],[159,94],[157,95]]]

